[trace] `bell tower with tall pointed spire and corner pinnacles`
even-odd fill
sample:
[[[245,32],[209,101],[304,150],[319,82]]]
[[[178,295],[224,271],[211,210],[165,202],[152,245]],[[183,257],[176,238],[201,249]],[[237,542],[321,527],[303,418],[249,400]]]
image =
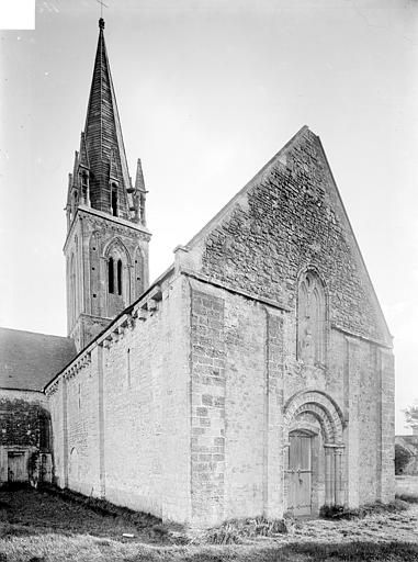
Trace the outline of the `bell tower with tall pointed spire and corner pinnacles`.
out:
[[[148,286],[146,193],[140,160],[132,183],[117,113],[104,20],[99,20],[84,131],[69,175],[67,326],[77,350]]]

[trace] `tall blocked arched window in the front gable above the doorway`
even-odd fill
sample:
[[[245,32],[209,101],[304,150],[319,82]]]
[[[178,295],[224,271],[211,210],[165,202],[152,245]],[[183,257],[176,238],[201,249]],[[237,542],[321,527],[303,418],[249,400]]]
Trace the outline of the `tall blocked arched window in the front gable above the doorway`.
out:
[[[307,364],[325,362],[326,297],[315,271],[305,272],[297,294],[297,359]]]

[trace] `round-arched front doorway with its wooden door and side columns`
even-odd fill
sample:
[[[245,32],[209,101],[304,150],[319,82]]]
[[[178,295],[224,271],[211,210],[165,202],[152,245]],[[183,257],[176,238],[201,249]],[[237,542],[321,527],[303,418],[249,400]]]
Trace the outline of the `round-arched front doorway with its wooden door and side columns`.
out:
[[[343,505],[343,417],[321,391],[302,391],[284,407],[284,497],[294,516],[317,515],[323,505]]]

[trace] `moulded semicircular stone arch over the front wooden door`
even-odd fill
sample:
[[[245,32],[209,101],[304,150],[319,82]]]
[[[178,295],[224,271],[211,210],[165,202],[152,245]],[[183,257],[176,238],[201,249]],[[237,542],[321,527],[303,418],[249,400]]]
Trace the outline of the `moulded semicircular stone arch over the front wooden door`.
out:
[[[338,404],[325,392],[308,390],[294,394],[284,406],[284,428],[300,415],[314,415],[321,427],[327,443],[342,443],[343,416]]]

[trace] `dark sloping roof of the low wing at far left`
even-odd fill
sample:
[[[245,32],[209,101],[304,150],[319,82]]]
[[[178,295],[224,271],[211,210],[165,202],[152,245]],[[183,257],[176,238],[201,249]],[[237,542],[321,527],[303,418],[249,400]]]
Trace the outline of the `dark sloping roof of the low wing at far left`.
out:
[[[0,389],[42,391],[76,355],[70,338],[0,328]]]

